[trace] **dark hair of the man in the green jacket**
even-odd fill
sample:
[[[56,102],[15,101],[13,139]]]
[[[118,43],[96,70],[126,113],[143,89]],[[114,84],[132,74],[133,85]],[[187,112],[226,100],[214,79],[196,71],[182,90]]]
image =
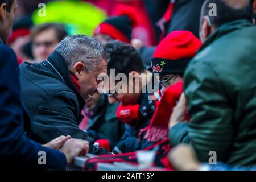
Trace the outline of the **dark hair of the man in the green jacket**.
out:
[[[253,19],[254,9],[253,1],[240,2],[240,7],[234,7],[232,0],[206,0],[203,5],[202,15],[208,16],[209,4],[215,3],[217,6],[217,16],[209,17],[214,27],[220,27],[225,23],[232,22],[239,19]],[[236,4],[236,2],[233,2]]]

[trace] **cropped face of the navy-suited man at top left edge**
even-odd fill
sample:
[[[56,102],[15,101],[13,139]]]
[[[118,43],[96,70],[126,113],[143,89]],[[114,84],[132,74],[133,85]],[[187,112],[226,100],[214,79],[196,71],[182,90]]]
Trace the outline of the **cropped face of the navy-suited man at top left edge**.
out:
[[[0,7],[0,16],[1,16],[1,39],[3,43],[6,44],[7,39],[9,37],[11,28],[13,27],[13,22],[14,22],[14,14],[17,9],[17,2],[16,0],[13,0],[13,3],[11,5],[11,11],[7,11],[7,5],[6,3],[2,3]]]

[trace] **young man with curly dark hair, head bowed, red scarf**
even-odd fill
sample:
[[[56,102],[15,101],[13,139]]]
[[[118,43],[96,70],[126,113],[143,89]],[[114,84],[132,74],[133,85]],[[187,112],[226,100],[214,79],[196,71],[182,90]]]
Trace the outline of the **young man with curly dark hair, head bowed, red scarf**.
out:
[[[145,146],[139,147],[138,145],[141,143],[138,142],[138,134],[141,129],[147,127],[150,123],[160,100],[160,96],[156,92],[154,92],[155,100],[150,100],[152,94],[143,93],[144,88],[152,81],[152,74],[144,68],[138,52],[129,44],[121,43],[117,40],[106,44],[105,48],[110,55],[108,63],[110,85],[114,85],[114,88],[110,86],[110,90],[108,90],[109,102],[121,103],[117,108],[116,114],[120,121],[126,123],[125,134],[123,134],[121,143],[114,148],[113,152],[120,154],[144,148],[149,143],[143,143]],[[124,86],[126,88],[122,88],[125,92],[118,93],[115,90],[119,82],[112,79],[112,71],[115,72],[114,76],[121,73],[127,77],[126,86]],[[150,76],[143,80],[141,74],[149,74]],[[129,79],[129,76],[134,78]],[[137,84],[139,84],[138,87],[136,86]],[[138,89],[138,92],[135,92],[136,89]]]

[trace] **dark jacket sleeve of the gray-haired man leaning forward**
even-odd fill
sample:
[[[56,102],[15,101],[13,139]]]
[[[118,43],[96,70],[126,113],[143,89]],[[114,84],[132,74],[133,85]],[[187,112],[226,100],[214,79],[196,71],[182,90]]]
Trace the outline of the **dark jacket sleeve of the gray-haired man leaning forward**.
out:
[[[72,138],[87,140],[90,144],[93,139],[80,130],[75,113],[79,109],[75,105],[75,94],[67,91],[59,91],[47,98],[36,111],[33,119],[33,137],[44,142],[59,137],[70,135]]]

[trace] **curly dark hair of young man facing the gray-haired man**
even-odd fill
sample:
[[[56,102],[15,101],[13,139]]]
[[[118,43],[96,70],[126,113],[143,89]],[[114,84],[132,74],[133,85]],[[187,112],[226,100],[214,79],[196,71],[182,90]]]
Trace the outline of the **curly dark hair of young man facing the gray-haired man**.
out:
[[[129,44],[115,40],[106,44],[105,48],[110,56],[108,74],[110,74],[110,69],[115,69],[115,74],[124,73],[127,76],[131,71],[143,73],[146,70],[141,56]]]

